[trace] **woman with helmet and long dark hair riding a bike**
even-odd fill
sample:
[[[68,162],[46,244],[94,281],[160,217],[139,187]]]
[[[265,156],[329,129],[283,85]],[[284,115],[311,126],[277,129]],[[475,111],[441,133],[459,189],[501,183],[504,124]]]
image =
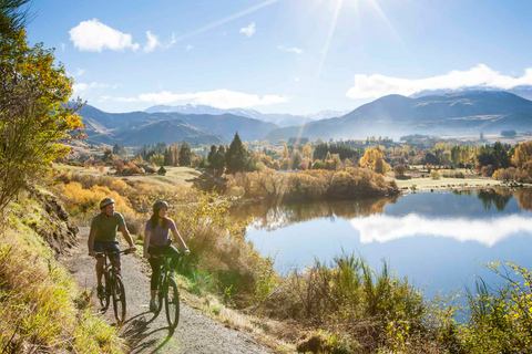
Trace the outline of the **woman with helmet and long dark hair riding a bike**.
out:
[[[157,311],[157,303],[155,296],[157,294],[157,282],[161,275],[160,259],[153,259],[151,256],[156,254],[178,254],[180,251],[172,246],[172,239],[170,238],[170,230],[174,235],[174,239],[178,239],[181,246],[185,250],[185,256],[190,254],[190,250],[185,244],[185,241],[181,237],[180,232],[175,228],[175,223],[172,219],[166,217],[168,211],[168,204],[163,200],[157,200],[153,205],[153,215],[146,222],[146,230],[144,237],[144,258],[146,258],[152,267],[152,278],[150,283],[150,311]],[[172,260],[172,269],[177,266],[177,258]]]

